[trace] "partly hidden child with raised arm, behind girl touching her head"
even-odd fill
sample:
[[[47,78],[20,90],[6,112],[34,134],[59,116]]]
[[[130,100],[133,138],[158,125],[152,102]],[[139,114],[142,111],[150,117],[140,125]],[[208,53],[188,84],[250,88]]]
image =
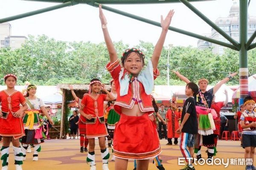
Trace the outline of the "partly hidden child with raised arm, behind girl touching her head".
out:
[[[78,103],[79,107],[81,105],[82,99],[80,99],[78,96],[76,96],[76,93],[74,92],[73,86],[68,85],[70,88],[70,91],[72,93],[72,96]],[[82,115],[79,116],[79,121],[78,121],[78,128],[79,128],[79,136],[80,136],[80,152],[87,152],[87,146],[88,146],[88,139],[86,138],[86,118]]]

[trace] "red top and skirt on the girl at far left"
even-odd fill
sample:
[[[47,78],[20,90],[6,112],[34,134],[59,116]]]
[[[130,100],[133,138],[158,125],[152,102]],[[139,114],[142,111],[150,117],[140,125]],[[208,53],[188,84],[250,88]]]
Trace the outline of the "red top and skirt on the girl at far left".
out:
[[[6,119],[0,117],[0,135],[13,136],[14,139],[24,136],[22,119],[13,116],[15,112],[20,110],[20,104],[24,105],[26,103],[24,96],[19,91],[9,95],[4,90],[0,91],[0,102],[2,102],[2,111],[7,113]]]

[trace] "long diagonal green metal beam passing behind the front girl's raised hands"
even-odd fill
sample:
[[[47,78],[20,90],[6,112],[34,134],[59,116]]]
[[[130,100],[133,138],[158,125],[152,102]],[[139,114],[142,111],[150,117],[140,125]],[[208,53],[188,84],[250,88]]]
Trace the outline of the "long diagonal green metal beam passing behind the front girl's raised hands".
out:
[[[93,4],[88,4],[88,5],[99,7],[99,3],[93,3]],[[133,19],[135,19],[135,20],[142,21],[142,22],[144,22],[144,23],[149,23],[149,24],[151,24],[151,25],[161,27],[161,24],[160,24],[160,23],[155,22],[155,21],[153,21],[153,20],[148,20],[148,19],[146,19],[146,18],[139,17],[139,16],[137,16],[137,15],[130,14],[130,13],[127,13],[127,12],[123,12],[123,11],[117,10],[117,9],[115,9],[115,8],[111,8],[111,7],[104,6],[104,5],[102,5],[102,8],[105,9],[105,10],[114,12],[114,13],[116,13],[116,14],[120,14],[120,15],[123,15],[123,16],[126,16],[126,17],[133,18]],[[180,34],[185,34],[185,35],[188,35],[188,36],[190,36],[190,37],[195,37],[195,38],[198,38],[198,39],[201,39],[201,40],[205,40],[205,41],[208,41],[208,42],[212,42],[212,43],[214,43],[214,44],[222,45],[222,46],[224,46],[224,47],[231,48],[231,49],[233,49],[233,50],[239,51],[239,50],[238,50],[234,45],[232,45],[232,44],[228,44],[228,43],[225,43],[225,42],[222,42],[222,41],[218,41],[218,40],[215,40],[215,39],[212,39],[212,38],[208,38],[208,37],[205,37],[205,36],[202,36],[202,35],[199,35],[199,34],[195,34],[195,33],[189,32],[189,31],[185,31],[185,30],[182,30],[182,29],[179,29],[179,28],[175,28],[175,27],[172,27],[172,26],[169,26],[169,30],[178,32],[178,33],[180,33]]]

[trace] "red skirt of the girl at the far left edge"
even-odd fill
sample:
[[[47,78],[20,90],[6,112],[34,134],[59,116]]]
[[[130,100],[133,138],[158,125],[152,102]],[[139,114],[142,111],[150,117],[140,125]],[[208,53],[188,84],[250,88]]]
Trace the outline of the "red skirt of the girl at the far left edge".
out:
[[[0,118],[0,135],[13,136],[14,139],[19,139],[25,135],[23,122],[20,117],[15,117],[9,113],[7,119]]]

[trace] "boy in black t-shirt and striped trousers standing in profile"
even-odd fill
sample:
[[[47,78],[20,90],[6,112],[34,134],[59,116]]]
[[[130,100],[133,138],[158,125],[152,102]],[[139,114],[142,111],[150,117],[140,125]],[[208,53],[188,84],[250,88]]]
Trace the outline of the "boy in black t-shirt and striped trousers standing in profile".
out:
[[[198,85],[194,82],[189,82],[186,85],[185,94],[188,98],[183,105],[180,128],[176,131],[181,134],[180,151],[187,162],[187,165],[181,170],[195,170],[195,167],[192,165],[192,160],[189,161],[188,158],[193,156],[194,134],[198,134],[198,119],[194,99],[198,90]],[[189,150],[187,147],[189,147]]]

